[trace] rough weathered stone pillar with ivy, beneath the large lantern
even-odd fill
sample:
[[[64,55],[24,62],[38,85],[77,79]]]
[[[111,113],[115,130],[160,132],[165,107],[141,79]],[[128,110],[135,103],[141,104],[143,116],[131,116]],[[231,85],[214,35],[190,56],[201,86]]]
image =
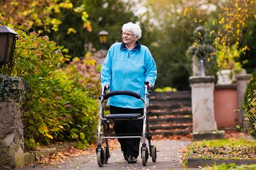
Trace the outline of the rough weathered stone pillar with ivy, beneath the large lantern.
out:
[[[0,86],[3,86],[0,80]],[[24,90],[22,80],[13,84],[5,101],[0,102],[0,169],[24,166],[24,138],[20,96],[14,91]],[[18,93],[19,94],[19,93]]]

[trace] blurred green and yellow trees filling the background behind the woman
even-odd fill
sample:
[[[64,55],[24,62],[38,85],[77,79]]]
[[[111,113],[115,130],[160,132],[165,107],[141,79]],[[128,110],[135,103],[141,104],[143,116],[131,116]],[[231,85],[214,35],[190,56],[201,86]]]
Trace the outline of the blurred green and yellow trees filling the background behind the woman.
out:
[[[231,45],[241,50],[241,62],[252,72],[255,50],[255,3],[253,1],[1,1],[1,20],[16,28],[28,22],[41,35],[68,48],[71,58],[101,49],[98,33],[109,32],[110,47],[121,41],[121,26],[137,22],[141,43],[148,46],[158,66],[157,87],[189,89],[191,63],[186,50],[193,45],[194,30],[202,26],[206,43],[229,53]],[[136,15],[135,15],[136,14]],[[219,49],[218,49],[219,48]],[[225,57],[221,61],[228,60]]]

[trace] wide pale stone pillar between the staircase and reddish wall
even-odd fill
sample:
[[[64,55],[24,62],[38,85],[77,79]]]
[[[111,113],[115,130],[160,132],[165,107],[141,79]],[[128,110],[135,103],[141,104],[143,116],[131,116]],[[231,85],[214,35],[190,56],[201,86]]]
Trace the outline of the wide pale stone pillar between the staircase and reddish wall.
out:
[[[221,139],[214,114],[214,76],[190,77],[193,114],[193,139]]]

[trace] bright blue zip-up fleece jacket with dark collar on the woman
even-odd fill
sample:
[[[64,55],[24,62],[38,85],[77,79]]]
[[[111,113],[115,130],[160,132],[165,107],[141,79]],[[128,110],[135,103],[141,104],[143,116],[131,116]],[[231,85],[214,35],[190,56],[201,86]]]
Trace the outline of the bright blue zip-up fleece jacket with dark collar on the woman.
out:
[[[129,50],[123,42],[114,43],[101,69],[101,85],[109,85],[110,91],[129,90],[144,97],[144,82],[154,86],[157,78],[156,63],[144,45],[136,41],[136,46]],[[128,95],[115,95],[108,104],[115,107],[138,109],[143,102]]]

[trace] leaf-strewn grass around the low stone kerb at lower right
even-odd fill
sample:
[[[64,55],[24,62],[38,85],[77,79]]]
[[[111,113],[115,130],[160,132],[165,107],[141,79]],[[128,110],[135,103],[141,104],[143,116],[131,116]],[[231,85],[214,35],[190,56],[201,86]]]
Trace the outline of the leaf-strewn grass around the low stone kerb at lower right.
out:
[[[242,135],[243,136],[243,135]],[[189,152],[193,152],[192,158],[202,159],[256,159],[256,140],[246,139],[239,134],[231,135],[225,139],[192,141],[184,150],[183,167],[187,168]],[[201,167],[202,168],[202,167]],[[189,169],[189,168],[188,168]],[[256,164],[236,166],[234,163],[226,165],[212,165],[203,167],[202,170],[225,170],[225,169],[250,169],[256,170]]]

